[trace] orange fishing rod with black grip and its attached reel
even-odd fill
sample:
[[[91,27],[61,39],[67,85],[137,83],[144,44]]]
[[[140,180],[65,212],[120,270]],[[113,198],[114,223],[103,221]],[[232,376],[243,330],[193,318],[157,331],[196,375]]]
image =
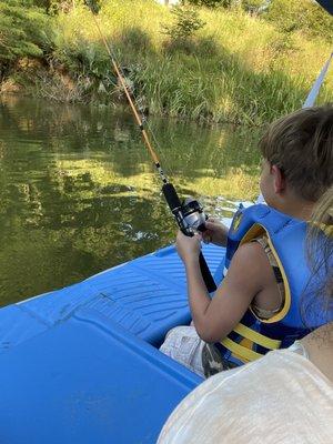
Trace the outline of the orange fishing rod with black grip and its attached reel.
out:
[[[169,182],[168,178],[165,176],[165,174],[161,168],[159,158],[158,158],[154,149],[152,148],[148,132],[145,131],[145,129],[143,127],[143,120],[140,117],[140,114],[137,110],[137,107],[134,104],[134,98],[131,97],[131,93],[129,91],[129,88],[128,88],[125,79],[124,79],[124,75],[122,74],[121,69],[119,68],[119,65],[115,61],[115,58],[112,54],[110,44],[108,43],[103,32],[101,31],[101,28],[100,28],[98,19],[97,19],[97,14],[98,14],[97,4],[95,3],[93,4],[93,2],[91,0],[87,0],[85,4],[88,6],[88,8],[90,9],[90,11],[92,13],[94,24],[95,24],[98,32],[104,43],[104,47],[105,47],[108,56],[111,60],[113,70],[117,73],[117,77],[120,81],[121,87],[123,88],[123,91],[125,93],[125,97],[128,99],[130,108],[133,112],[134,119],[141,131],[143,142],[144,142],[144,144],[148,149],[148,152],[150,153],[150,155],[154,162],[155,169],[158,170],[160,178],[163,182],[162,192],[163,192],[163,195],[168,203],[168,206],[170,208],[173,216],[175,218],[178,226],[188,236],[193,236],[195,234],[195,232],[198,232],[198,231],[200,231],[200,232],[205,231],[206,215],[203,212],[202,205],[195,199],[186,199],[184,202],[181,202],[173,184],[171,182]],[[216,290],[216,284],[213,280],[210,269],[208,268],[208,264],[205,262],[205,259],[204,259],[202,252],[200,252],[199,263],[200,263],[200,270],[201,270],[205,286],[206,286],[208,291],[211,293]]]

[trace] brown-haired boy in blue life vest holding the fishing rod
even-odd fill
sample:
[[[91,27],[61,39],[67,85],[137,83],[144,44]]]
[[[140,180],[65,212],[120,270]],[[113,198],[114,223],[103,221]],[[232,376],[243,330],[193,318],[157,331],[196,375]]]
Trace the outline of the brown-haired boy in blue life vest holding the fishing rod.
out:
[[[260,188],[268,205],[240,209],[229,232],[208,221],[202,236],[176,236],[193,326],[171,330],[161,351],[205,376],[286,347],[309,332],[300,309],[310,278],[305,221],[333,183],[333,108],[278,120],[260,148]],[[199,266],[201,239],[228,244],[228,274],[212,300]],[[312,320],[313,327],[324,323],[324,315]]]

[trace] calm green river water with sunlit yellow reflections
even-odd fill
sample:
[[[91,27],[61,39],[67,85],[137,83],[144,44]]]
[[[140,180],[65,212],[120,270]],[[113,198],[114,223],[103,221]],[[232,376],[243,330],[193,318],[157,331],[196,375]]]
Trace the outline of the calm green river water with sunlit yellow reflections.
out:
[[[230,218],[259,193],[259,130],[149,119],[183,196]],[[132,115],[0,99],[0,305],[81,281],[174,241]]]

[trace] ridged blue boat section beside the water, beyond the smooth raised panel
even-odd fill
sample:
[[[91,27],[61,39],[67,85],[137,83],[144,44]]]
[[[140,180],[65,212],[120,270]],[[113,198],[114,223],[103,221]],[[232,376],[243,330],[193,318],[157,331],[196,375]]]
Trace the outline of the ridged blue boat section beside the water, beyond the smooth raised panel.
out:
[[[220,281],[219,265],[225,250],[204,245],[203,253],[212,274]],[[174,246],[1,309],[0,353],[65,322],[82,307],[159,345],[170,329],[191,320],[184,269]]]

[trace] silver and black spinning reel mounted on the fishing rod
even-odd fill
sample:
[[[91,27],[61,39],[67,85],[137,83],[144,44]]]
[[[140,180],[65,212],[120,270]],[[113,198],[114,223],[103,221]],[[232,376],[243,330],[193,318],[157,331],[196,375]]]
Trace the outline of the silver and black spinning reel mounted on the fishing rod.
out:
[[[203,208],[193,198],[188,198],[181,206],[173,209],[173,215],[180,230],[189,236],[193,236],[196,232],[205,231],[204,222],[208,216],[204,214]]]

